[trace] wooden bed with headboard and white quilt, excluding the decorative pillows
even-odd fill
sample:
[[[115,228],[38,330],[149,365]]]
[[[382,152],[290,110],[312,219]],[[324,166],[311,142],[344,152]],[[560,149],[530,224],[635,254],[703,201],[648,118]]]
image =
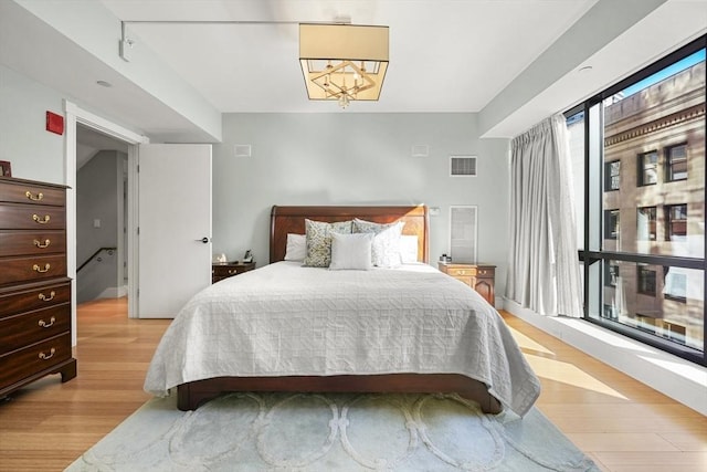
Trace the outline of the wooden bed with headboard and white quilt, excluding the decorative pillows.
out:
[[[273,207],[271,263],[187,303],[145,390],[176,389],[180,410],[232,391],[455,392],[487,413],[525,415],[538,378],[495,308],[426,264],[428,218],[424,206]],[[405,263],[335,271],[286,260],[288,234],[352,219],[400,224]]]

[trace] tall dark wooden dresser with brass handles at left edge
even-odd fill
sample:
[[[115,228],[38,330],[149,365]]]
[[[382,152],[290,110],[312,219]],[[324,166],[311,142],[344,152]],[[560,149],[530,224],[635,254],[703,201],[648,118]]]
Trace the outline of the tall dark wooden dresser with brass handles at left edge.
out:
[[[65,206],[64,186],[0,177],[0,398],[76,376]]]

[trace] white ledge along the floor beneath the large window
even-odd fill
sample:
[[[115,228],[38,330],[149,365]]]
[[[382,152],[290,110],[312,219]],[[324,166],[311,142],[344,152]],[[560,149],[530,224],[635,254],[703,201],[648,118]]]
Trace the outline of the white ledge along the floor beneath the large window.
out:
[[[504,310],[707,416],[707,368],[582,319],[538,315],[507,298]]]

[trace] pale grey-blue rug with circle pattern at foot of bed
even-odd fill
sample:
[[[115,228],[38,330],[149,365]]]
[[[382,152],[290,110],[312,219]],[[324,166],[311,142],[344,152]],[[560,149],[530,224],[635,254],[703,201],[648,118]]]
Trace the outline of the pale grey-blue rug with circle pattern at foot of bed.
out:
[[[230,394],[145,403],[67,471],[599,471],[536,408],[454,395]]]

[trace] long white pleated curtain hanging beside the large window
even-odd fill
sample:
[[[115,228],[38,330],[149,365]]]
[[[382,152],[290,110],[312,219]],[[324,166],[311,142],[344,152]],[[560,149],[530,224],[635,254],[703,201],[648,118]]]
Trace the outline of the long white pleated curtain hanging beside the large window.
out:
[[[511,143],[506,296],[542,315],[581,316],[567,125],[545,119]]]

